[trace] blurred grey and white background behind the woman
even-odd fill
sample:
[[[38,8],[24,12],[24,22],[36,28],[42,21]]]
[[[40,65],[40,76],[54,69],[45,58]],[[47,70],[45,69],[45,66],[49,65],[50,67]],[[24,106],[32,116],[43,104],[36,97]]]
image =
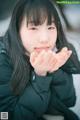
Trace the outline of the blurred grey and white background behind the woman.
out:
[[[8,29],[12,11],[17,1],[0,0],[0,36],[3,36]],[[68,41],[74,45],[80,60],[80,4],[58,4],[57,9],[65,35]],[[80,74],[73,75],[73,78],[77,102],[71,109],[80,117]]]

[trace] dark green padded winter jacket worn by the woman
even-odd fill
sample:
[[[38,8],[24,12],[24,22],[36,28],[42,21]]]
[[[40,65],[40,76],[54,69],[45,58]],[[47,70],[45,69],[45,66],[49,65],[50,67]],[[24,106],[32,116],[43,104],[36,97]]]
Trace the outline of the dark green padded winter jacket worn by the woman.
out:
[[[10,120],[39,120],[43,114],[61,114],[66,120],[77,120],[68,110],[76,101],[71,73],[59,69],[41,77],[32,71],[24,93],[15,96],[10,84],[12,71],[3,40],[0,40],[0,112],[8,112]]]

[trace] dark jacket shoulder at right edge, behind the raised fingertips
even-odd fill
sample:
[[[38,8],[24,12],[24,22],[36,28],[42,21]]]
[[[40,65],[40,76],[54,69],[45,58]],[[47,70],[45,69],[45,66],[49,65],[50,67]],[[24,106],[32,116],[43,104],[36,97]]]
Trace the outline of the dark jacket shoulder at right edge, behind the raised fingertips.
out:
[[[77,52],[72,44],[69,44],[69,47],[72,50],[72,55],[61,69],[70,74],[80,74],[80,61]]]

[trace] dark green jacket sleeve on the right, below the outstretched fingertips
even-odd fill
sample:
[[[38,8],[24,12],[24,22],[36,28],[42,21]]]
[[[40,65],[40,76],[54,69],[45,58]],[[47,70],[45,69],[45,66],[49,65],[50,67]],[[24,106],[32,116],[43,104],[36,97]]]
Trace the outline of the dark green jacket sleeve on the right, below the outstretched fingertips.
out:
[[[72,75],[64,72],[62,69],[59,69],[53,74],[50,106],[53,104],[55,95],[67,107],[75,105],[76,94]]]

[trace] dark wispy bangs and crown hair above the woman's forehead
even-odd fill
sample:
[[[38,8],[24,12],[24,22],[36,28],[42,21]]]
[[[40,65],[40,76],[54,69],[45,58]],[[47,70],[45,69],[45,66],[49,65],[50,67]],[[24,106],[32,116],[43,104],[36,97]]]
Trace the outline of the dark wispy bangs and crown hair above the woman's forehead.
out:
[[[25,16],[27,25],[33,23],[34,25],[41,25],[47,19],[47,24],[50,25],[52,21],[55,22],[55,12],[53,5],[47,0],[29,0],[25,7]]]

